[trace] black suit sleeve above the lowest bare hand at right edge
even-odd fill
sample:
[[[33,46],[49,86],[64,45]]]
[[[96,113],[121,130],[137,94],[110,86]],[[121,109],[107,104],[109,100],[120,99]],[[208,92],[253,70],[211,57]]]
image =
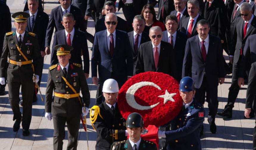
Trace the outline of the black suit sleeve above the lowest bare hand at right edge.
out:
[[[255,97],[255,91],[256,91],[255,64],[256,63],[252,63],[251,70],[249,73],[249,82],[248,82],[248,87],[247,87],[247,91],[246,91],[245,108],[252,108],[252,103],[253,103],[254,97]]]

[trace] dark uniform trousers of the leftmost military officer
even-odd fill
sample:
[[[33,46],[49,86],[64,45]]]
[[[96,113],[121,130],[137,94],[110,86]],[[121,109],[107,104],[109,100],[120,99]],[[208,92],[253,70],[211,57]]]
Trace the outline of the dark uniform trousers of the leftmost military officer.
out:
[[[8,82],[9,101],[13,110],[13,121],[21,119],[21,112],[19,107],[20,101],[20,87],[23,100],[22,112],[22,128],[29,129],[32,116],[32,99],[34,93],[34,83],[31,81]]]

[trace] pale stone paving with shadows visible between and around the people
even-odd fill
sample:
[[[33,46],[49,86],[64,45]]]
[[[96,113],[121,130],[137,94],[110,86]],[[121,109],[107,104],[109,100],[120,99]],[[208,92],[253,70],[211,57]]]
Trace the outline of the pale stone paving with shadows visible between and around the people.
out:
[[[25,0],[7,0],[7,5],[10,7],[11,13],[22,11],[25,4]],[[45,12],[50,14],[51,9],[58,6],[57,0],[45,0]],[[157,10],[157,9],[156,9]],[[118,16],[124,18],[122,12],[117,13]],[[13,23],[13,21],[12,21]],[[15,30],[15,28],[13,28]],[[94,34],[94,22],[90,18],[88,22],[89,33]],[[88,48],[92,47],[92,43],[88,42]],[[91,56],[91,51],[90,56]],[[226,60],[228,57],[225,55]],[[45,97],[45,90],[47,85],[47,74],[50,64],[50,57],[45,57],[43,77],[40,89]],[[95,104],[96,86],[92,84],[92,78],[87,79],[88,86],[91,94],[91,105]],[[221,111],[227,103],[228,88],[230,87],[231,76],[226,76],[225,83],[218,86],[218,111]],[[205,132],[202,137],[202,148],[207,150],[243,150],[252,149],[252,135],[253,127],[255,126],[254,119],[243,119],[245,97],[246,97],[245,85],[239,92],[237,103],[233,110],[232,119],[223,119],[217,116],[216,125],[217,133],[211,134],[207,118],[205,118],[204,126]],[[6,91],[8,88],[6,87]],[[21,96],[21,95],[20,95]],[[205,109],[208,111],[207,102],[205,103]],[[22,107],[21,107],[22,111]],[[28,137],[22,136],[22,130],[13,132],[13,113],[8,101],[8,92],[6,95],[0,96],[0,150],[51,150],[52,135],[53,135],[53,123],[47,121],[44,116],[44,102],[40,100],[38,95],[38,101],[33,103],[32,110],[32,122],[30,126],[30,135]],[[88,139],[89,149],[95,149],[96,144],[96,132],[90,124],[89,115],[87,116],[88,123]],[[67,131],[66,131],[67,133]],[[64,140],[63,149],[67,146],[67,137]],[[87,149],[86,133],[81,128],[79,130],[78,149]]]

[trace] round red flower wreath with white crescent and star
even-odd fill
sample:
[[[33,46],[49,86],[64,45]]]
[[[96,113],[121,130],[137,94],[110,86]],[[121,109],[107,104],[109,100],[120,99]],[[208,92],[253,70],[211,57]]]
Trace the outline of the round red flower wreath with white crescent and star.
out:
[[[168,74],[151,71],[125,82],[119,90],[117,103],[125,119],[132,112],[140,113],[145,127],[168,123],[182,108],[179,83]]]

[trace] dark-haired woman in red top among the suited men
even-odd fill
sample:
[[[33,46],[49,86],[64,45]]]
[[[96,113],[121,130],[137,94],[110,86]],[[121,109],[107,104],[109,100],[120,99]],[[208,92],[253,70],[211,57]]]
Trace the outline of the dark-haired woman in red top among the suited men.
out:
[[[160,26],[162,31],[165,30],[164,24],[157,20],[156,12],[155,12],[154,7],[152,5],[146,4],[143,7],[142,11],[141,11],[141,16],[143,16],[144,19],[145,19],[145,29],[144,29],[144,32],[149,33],[149,29],[152,26]]]

